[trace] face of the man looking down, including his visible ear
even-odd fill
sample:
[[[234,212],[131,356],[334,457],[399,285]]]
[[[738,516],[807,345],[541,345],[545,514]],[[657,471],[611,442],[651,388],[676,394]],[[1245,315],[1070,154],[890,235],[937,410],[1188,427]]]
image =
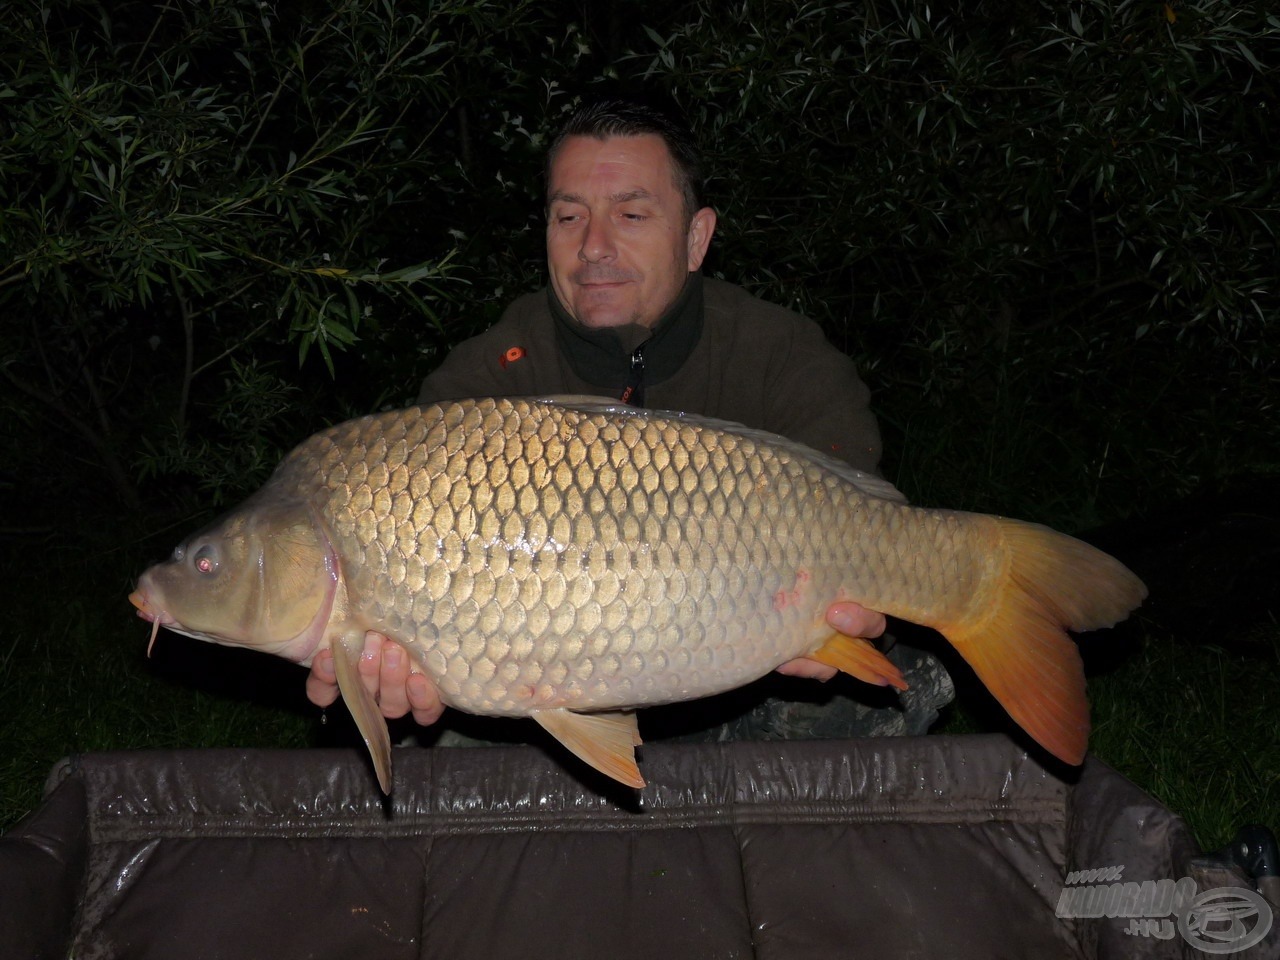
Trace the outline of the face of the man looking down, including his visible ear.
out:
[[[716,212],[685,223],[662,137],[570,137],[550,168],[552,289],[585,326],[653,326],[701,266]]]

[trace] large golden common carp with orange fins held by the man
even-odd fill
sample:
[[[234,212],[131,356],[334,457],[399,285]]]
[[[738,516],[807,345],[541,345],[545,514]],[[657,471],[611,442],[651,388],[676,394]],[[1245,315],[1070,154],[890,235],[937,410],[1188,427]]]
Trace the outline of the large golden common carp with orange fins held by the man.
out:
[[[466,399],[316,434],[138,580],[142,617],[308,664],[339,689],[390,788],[365,631],[440,698],[532,717],[632,786],[634,708],[809,657],[905,686],[837,599],[941,631],[1010,716],[1080,763],[1084,673],[1064,628],[1124,618],[1142,582],[1047,527],[908,506],[890,484],[748,428],[591,398]]]

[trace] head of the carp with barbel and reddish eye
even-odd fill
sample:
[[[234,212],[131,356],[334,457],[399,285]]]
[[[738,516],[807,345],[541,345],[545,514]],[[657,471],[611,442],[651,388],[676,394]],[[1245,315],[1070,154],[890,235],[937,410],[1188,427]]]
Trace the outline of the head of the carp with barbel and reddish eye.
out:
[[[129,602],[155,625],[152,641],[163,626],[310,663],[325,639],[339,579],[314,509],[259,495],[143,572]]]

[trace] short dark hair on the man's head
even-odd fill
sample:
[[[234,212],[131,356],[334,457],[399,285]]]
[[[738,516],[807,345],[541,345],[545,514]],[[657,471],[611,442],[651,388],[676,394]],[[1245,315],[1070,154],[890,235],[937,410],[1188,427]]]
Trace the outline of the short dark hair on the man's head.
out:
[[[672,110],[663,110],[641,100],[593,100],[575,110],[552,140],[547,151],[544,179],[552,180],[552,164],[568,137],[662,137],[671,154],[676,173],[676,189],[685,205],[685,224],[692,221],[703,202],[703,157],[689,125]]]

